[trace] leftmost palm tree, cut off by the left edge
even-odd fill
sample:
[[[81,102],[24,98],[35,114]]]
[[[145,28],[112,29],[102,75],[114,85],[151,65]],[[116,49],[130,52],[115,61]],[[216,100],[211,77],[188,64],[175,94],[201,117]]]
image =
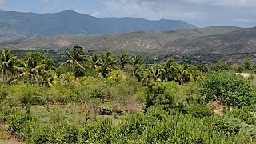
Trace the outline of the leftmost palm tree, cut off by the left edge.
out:
[[[2,82],[8,82],[8,72],[17,73],[22,71],[21,67],[16,66],[17,56],[11,54],[10,49],[3,49],[0,55],[0,69],[2,70]]]

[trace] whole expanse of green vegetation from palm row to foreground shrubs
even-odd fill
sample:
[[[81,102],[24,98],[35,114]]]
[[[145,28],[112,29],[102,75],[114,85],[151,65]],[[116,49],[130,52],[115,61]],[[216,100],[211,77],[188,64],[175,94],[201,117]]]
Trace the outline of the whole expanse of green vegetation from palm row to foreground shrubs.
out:
[[[148,66],[138,55],[87,55],[81,46],[66,54],[59,64],[38,52],[17,58],[2,50],[0,139],[256,142],[254,86],[248,78],[222,71],[226,64],[208,72],[206,66],[173,59]]]

